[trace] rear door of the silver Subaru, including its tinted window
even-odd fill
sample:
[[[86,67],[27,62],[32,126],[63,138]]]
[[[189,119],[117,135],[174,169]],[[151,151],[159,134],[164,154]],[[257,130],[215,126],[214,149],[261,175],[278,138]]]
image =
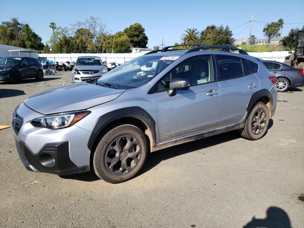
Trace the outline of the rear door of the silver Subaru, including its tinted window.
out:
[[[222,127],[244,118],[251,96],[260,88],[260,80],[245,59],[216,55],[216,63],[221,94],[217,127]]]

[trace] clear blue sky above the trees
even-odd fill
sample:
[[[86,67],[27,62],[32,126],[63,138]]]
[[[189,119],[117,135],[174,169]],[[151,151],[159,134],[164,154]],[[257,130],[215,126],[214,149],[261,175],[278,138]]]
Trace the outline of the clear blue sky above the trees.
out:
[[[302,0],[300,0],[301,2]],[[148,36],[148,47],[161,44],[174,45],[180,42],[180,36],[187,28],[197,28],[199,31],[206,26],[223,24],[230,28],[239,26],[251,20],[272,22],[284,19],[284,23],[304,22],[302,15],[293,17],[293,5],[286,0],[277,1],[5,1],[0,0],[0,21],[8,21],[12,17],[19,22],[28,23],[41,36],[42,42],[49,40],[52,30],[50,22],[57,26],[69,27],[76,21],[85,18],[102,18],[108,31],[116,33],[136,22],[142,24]],[[300,4],[301,5],[301,4]],[[253,22],[251,34],[263,37],[264,23]],[[304,24],[284,24],[282,36],[288,34],[293,27]],[[233,38],[248,38],[250,24],[233,29]]]

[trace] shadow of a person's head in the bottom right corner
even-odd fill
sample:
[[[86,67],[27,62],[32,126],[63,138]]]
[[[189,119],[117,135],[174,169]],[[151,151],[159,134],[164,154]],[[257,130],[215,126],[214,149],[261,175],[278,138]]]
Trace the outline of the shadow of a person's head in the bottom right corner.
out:
[[[279,207],[269,207],[266,212],[267,216],[265,219],[256,219],[255,217],[247,223],[244,228],[291,228],[288,214]]]

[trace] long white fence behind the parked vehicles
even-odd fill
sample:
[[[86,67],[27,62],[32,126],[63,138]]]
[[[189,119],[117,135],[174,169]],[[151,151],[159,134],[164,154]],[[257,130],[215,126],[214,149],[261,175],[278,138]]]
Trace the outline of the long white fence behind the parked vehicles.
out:
[[[71,54],[39,54],[40,61],[42,60],[53,60],[54,62],[65,62],[65,61],[76,61],[78,56],[99,56],[102,61],[115,62],[122,64],[125,61],[131,60],[145,53],[103,53],[103,54],[92,54],[92,53],[71,53]],[[289,55],[288,51],[273,51],[273,52],[248,52],[249,55],[259,57],[264,60],[275,60],[283,62],[285,56]]]

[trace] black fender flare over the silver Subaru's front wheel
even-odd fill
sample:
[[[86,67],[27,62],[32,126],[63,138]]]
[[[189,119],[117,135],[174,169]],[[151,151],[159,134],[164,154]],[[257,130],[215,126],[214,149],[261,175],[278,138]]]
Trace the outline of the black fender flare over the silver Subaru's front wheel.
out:
[[[98,137],[98,134],[105,128],[105,126],[107,126],[109,123],[112,123],[117,119],[121,119],[124,117],[139,119],[140,121],[145,123],[152,133],[152,140],[153,140],[152,144],[153,146],[155,146],[155,141],[156,141],[155,120],[144,109],[138,106],[133,106],[122,109],[116,109],[100,116],[96,120],[95,125],[89,136],[88,149],[92,150],[94,142]]]

